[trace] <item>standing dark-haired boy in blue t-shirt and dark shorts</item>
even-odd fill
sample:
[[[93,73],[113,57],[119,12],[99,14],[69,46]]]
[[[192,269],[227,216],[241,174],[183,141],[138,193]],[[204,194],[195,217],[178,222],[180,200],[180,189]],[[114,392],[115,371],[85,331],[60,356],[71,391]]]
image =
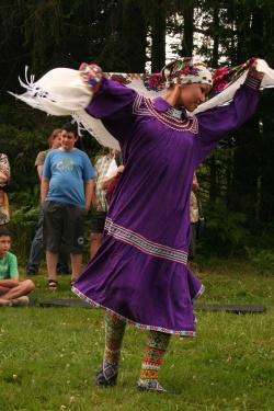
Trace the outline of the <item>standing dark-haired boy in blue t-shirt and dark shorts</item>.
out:
[[[64,125],[61,147],[48,152],[42,172],[41,198],[44,210],[44,242],[48,287],[56,289],[60,243],[71,259],[71,282],[80,274],[84,209],[89,210],[95,174],[88,156],[75,148],[77,127]]]

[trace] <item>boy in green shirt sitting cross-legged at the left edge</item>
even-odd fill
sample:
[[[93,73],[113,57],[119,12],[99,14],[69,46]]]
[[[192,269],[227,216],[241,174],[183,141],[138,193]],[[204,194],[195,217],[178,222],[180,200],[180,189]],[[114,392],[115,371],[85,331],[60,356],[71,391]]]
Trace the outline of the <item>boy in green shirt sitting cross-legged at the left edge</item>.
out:
[[[10,252],[11,233],[0,227],[0,306],[27,306],[35,285],[31,279],[19,281],[18,259]]]

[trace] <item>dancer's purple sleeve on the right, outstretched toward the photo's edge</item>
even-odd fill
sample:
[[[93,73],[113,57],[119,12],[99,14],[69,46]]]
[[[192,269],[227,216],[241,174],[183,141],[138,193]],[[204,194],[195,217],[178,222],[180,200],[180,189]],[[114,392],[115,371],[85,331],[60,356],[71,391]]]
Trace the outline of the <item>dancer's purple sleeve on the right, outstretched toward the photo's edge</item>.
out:
[[[198,163],[212,152],[224,134],[240,127],[254,114],[260,83],[261,80],[248,76],[230,104],[196,115],[198,121]]]

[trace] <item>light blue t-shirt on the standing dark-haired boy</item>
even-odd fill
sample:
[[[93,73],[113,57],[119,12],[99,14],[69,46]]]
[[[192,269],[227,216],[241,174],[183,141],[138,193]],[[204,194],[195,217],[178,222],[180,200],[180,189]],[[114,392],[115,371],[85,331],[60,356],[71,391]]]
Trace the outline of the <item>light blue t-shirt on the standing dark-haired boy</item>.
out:
[[[95,172],[85,152],[55,149],[48,152],[42,174],[49,180],[47,201],[84,207],[84,183]]]

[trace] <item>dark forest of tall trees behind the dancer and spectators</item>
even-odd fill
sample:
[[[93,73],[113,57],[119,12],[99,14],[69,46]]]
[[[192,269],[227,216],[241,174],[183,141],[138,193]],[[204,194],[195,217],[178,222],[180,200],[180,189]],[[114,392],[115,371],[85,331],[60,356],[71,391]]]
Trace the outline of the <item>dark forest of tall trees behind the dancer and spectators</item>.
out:
[[[96,61],[105,71],[159,71],[167,59],[202,55],[212,66],[255,56],[274,67],[273,0],[0,1],[0,151],[9,156],[11,228],[24,260],[38,210],[34,160],[66,118],[14,101],[25,66],[38,79],[55,67]],[[167,42],[167,38],[169,41]],[[274,273],[274,92],[198,169],[206,216],[201,253],[243,255]],[[102,148],[83,135],[94,160]],[[174,180],[175,181],[175,180]],[[176,184],[180,182],[176,181]]]

